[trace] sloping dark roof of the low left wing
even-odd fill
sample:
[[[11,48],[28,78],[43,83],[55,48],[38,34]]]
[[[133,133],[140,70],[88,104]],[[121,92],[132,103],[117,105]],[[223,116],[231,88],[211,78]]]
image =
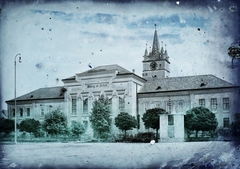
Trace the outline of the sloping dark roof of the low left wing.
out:
[[[65,89],[66,90],[66,89]],[[63,99],[64,98],[64,88],[63,86],[58,87],[46,87],[34,90],[30,93],[17,97],[16,100],[38,100],[38,99]],[[12,102],[8,100],[6,102]]]

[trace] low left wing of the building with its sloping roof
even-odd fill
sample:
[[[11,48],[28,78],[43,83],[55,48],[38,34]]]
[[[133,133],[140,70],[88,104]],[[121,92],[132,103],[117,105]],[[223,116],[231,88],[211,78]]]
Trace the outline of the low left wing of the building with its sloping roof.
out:
[[[64,109],[63,86],[40,88],[16,98],[17,121],[20,123],[26,118],[34,118],[42,122],[46,113],[52,110]],[[15,118],[15,100],[6,101],[8,118]]]

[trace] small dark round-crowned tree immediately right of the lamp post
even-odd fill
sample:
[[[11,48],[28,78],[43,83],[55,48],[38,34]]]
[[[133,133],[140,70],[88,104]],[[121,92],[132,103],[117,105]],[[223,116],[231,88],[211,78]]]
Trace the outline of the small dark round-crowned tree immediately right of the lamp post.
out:
[[[40,131],[41,124],[38,120],[35,119],[25,119],[19,124],[20,131],[26,131],[30,133],[38,133]]]

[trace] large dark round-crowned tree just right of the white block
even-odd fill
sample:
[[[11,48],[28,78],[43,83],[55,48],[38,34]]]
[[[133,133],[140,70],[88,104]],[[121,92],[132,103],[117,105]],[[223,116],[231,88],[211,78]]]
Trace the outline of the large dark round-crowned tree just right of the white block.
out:
[[[184,126],[188,131],[195,130],[197,138],[199,131],[214,131],[217,128],[217,119],[215,114],[208,108],[195,107],[187,111],[184,117]]]

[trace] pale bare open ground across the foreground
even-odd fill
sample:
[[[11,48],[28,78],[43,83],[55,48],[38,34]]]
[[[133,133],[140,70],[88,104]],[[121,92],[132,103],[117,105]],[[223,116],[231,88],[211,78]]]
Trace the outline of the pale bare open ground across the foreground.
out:
[[[240,145],[232,142],[6,143],[0,155],[2,169],[240,169]]]

